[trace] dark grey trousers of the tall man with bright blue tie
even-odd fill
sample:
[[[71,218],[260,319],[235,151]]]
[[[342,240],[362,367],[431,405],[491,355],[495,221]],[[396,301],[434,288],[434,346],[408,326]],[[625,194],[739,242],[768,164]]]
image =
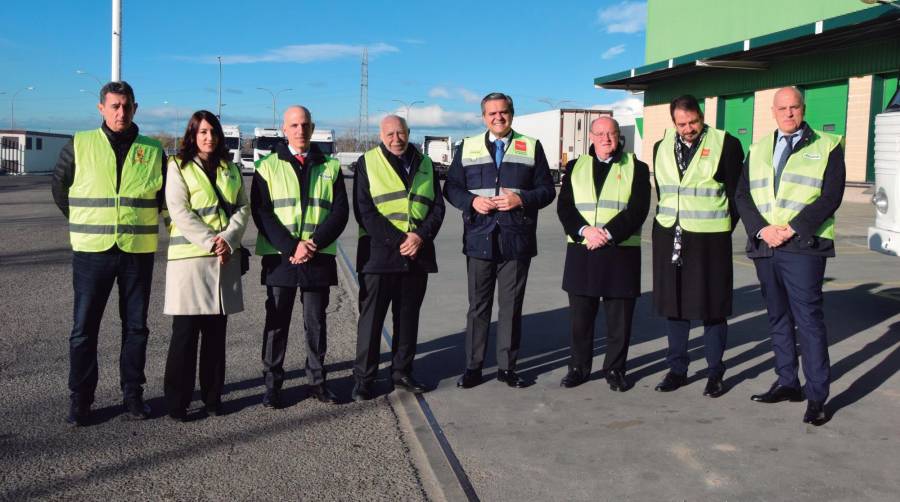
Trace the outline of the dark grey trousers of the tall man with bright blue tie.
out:
[[[497,322],[497,367],[516,369],[522,339],[522,302],[531,259],[489,261],[466,257],[469,279],[469,312],[466,314],[466,369],[480,370],[487,352],[494,285],[500,312]]]

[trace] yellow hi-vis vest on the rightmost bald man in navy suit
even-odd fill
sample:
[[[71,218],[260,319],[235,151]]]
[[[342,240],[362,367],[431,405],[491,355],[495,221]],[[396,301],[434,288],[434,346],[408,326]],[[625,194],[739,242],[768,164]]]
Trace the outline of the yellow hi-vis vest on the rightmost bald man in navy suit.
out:
[[[787,225],[803,208],[819,198],[828,156],[840,143],[840,136],[814,130],[810,140],[788,157],[777,195],[772,165],[775,135],[769,134],[750,146],[750,196],[769,224]],[[825,220],[815,235],[833,240],[834,216]]]

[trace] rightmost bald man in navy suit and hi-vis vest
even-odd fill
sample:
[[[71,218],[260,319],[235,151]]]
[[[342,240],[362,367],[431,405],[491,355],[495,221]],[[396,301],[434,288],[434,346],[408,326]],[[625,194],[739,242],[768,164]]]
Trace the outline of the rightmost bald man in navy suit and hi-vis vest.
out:
[[[736,200],[747,229],[747,256],[756,266],[769,312],[778,380],[751,399],[760,403],[808,400],[805,423],[827,420],[831,380],[822,310],[825,260],[834,253],[834,213],[844,197],[841,137],[803,120],[803,94],[775,93],[772,134],[750,147]],[[797,346],[806,385],[801,390]],[[805,391],[805,396],[804,396]]]

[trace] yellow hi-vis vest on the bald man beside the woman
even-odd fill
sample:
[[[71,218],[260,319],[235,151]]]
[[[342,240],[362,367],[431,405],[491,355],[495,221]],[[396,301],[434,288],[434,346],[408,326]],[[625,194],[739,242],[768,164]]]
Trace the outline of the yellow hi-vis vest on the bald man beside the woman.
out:
[[[338,178],[341,163],[332,157],[325,157],[325,162],[309,166],[309,190],[306,211],[303,211],[300,200],[300,181],[290,162],[278,158],[272,153],[263,157],[256,171],[269,185],[269,197],[272,198],[275,217],[291,233],[295,239],[308,240],[319,225],[331,212],[334,200],[334,181]],[[337,244],[332,242],[317,253],[333,255]],[[256,236],[256,254],[281,254],[262,233]]]

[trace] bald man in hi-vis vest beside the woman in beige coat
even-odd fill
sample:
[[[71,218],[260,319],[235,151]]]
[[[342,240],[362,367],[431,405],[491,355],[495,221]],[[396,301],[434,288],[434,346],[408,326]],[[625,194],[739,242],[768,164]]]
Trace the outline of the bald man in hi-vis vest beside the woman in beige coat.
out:
[[[340,162],[310,141],[315,127],[306,107],[288,107],[282,124],[287,143],[260,159],[253,175],[251,213],[266,286],[262,404],[267,408],[284,404],[284,356],[298,288],[309,394],[324,403],[337,401],[325,385],[325,309],[329,289],[337,284],[335,241],[347,226],[350,207]]]

